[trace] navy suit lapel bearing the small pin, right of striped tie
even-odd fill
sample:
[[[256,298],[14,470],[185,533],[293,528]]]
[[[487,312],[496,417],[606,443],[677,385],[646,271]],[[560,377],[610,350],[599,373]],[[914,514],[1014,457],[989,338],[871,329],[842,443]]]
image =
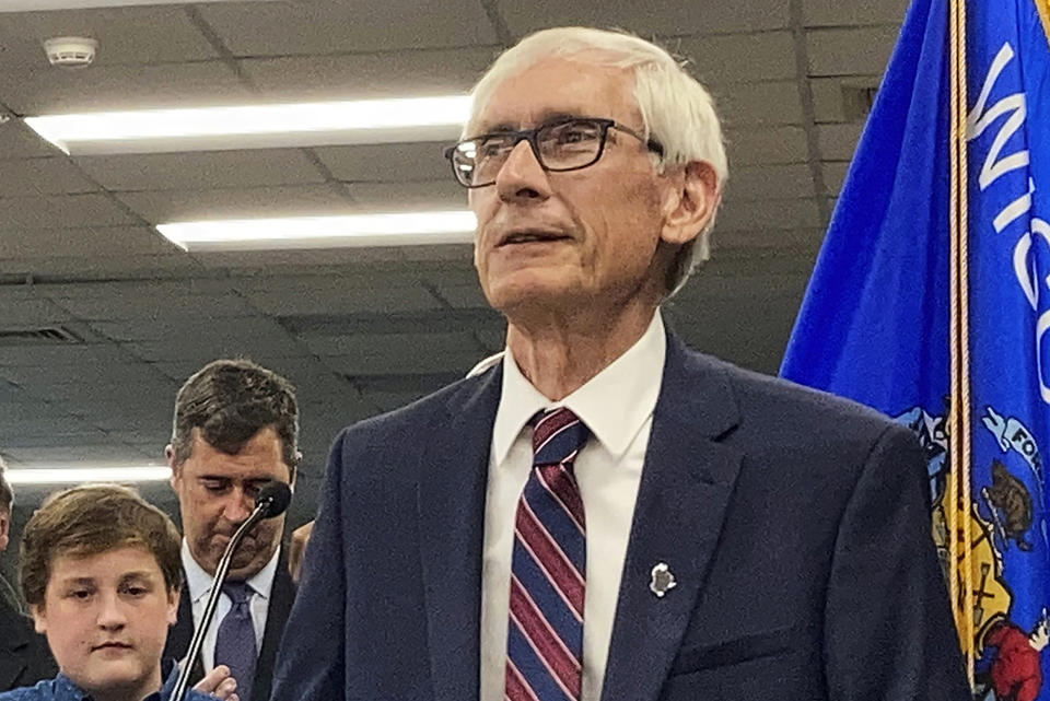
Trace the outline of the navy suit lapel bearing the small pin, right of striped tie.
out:
[[[604,701],[656,699],[719,541],[742,455],[718,442],[737,423],[719,367],[668,336],[667,360],[631,525]],[[676,585],[657,597],[653,568]]]

